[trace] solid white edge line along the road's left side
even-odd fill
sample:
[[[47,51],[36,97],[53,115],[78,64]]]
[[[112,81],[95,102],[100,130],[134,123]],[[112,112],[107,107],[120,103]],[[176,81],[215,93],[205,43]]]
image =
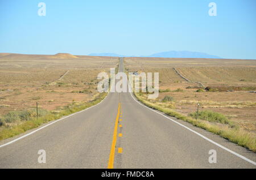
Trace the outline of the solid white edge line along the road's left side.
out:
[[[108,93],[108,95],[109,95],[109,93]],[[101,104],[101,102],[104,101],[105,98],[106,98],[108,95],[106,95],[106,96],[104,97],[104,99],[101,100],[101,101],[100,101],[98,104],[96,104],[96,105],[90,106],[89,108],[86,108],[86,109],[84,109],[84,110],[81,110],[80,112],[76,112],[76,113],[73,113],[73,114],[69,114],[69,115],[66,116],[66,117],[57,119],[57,120],[55,120],[55,121],[53,121],[53,122],[51,122],[51,123],[49,123],[49,124],[47,124],[47,125],[45,125],[45,126],[43,126],[43,127],[40,127],[40,128],[38,128],[38,129],[36,129],[35,131],[32,131],[32,132],[30,132],[30,133],[28,133],[28,134],[26,134],[26,135],[20,136],[20,137],[17,138],[17,139],[11,140],[10,142],[8,142],[8,143],[6,143],[6,144],[0,145],[0,148],[4,147],[4,146],[6,146],[6,145],[12,144],[12,143],[14,143],[14,142],[16,142],[16,141],[18,141],[18,140],[20,140],[20,139],[23,139],[23,138],[25,138],[25,137],[27,137],[27,136],[29,136],[29,135],[31,135],[31,134],[34,134],[36,131],[42,130],[43,128],[45,128],[45,127],[47,127],[47,126],[50,126],[50,125],[52,125],[53,123],[56,123],[56,122],[58,122],[58,121],[61,121],[62,119],[71,117],[72,115],[75,115],[75,114],[84,112],[85,110],[88,110],[88,109],[90,109],[90,108],[93,108],[94,106],[97,106],[97,105]]]

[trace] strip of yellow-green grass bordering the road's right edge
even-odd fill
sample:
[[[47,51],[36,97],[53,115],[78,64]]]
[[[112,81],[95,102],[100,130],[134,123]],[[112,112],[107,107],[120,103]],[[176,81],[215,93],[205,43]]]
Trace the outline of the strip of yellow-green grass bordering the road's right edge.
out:
[[[232,128],[229,125],[209,122],[201,119],[195,119],[187,115],[183,115],[175,112],[175,110],[164,108],[163,106],[149,102],[143,96],[139,96],[139,93],[134,93],[135,97],[141,101],[144,105],[159,110],[166,115],[176,117],[180,120],[191,123],[193,126],[203,128],[209,132],[222,136],[222,138],[230,140],[230,142],[236,143],[256,152],[256,135],[253,132],[244,131],[242,128]]]

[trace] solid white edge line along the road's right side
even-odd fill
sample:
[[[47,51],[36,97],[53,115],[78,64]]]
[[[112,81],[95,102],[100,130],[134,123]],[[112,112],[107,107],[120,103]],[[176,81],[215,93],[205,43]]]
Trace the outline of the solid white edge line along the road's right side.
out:
[[[131,92],[130,92],[130,95],[131,95],[131,97],[133,97],[133,95],[131,94]],[[141,102],[139,102],[138,100],[136,100],[134,97],[133,97],[133,99],[134,99],[134,101],[138,102],[138,104],[144,106],[145,108],[148,108],[146,105],[142,104]],[[250,162],[250,163],[253,164],[253,165],[256,165],[256,162],[250,160],[249,158],[246,158],[245,156],[242,156],[242,155],[240,155],[240,154],[238,154],[238,153],[236,153],[236,152],[234,152],[234,151],[232,151],[232,150],[230,150],[230,149],[224,147],[223,145],[220,145],[220,144],[214,142],[213,140],[211,140],[211,139],[205,137],[204,135],[201,135],[199,132],[196,132],[196,131],[192,130],[191,128],[189,128],[189,127],[187,127],[187,126],[185,126],[185,125],[183,125],[183,124],[181,124],[181,123],[175,121],[174,119],[171,119],[171,118],[167,117],[166,115],[157,112],[157,111],[154,110],[154,109],[151,109],[151,108],[148,108],[148,109],[154,111],[155,113],[158,113],[158,114],[160,114],[160,115],[163,115],[163,117],[166,117],[167,119],[170,119],[171,121],[177,123],[178,125],[187,128],[187,130],[194,132],[195,134],[201,136],[201,137],[204,138],[205,140],[208,140],[208,142],[217,145],[218,147],[220,147],[220,148],[222,148],[222,149],[224,149],[224,150],[226,150],[226,151],[232,153],[233,155],[236,155],[237,157],[240,157],[240,158],[242,158],[243,160],[245,160],[245,161],[247,161],[247,162]]]

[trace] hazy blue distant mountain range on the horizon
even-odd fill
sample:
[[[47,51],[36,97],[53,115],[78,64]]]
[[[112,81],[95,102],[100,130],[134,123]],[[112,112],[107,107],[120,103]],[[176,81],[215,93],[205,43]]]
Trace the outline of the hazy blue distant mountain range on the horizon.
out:
[[[112,57],[128,57],[127,55],[120,55],[115,53],[92,53],[89,54],[92,56],[112,56]],[[130,56],[134,57],[134,56]],[[207,53],[200,53],[200,52],[189,52],[189,51],[174,51],[171,50],[170,52],[162,52],[156,53],[152,55],[141,55],[140,57],[159,57],[159,58],[216,58],[221,59],[217,55],[210,55]]]

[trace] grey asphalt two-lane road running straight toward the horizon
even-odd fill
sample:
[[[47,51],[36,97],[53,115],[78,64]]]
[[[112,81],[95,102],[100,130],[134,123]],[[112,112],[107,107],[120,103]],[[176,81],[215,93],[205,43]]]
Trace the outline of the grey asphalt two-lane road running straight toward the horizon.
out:
[[[255,153],[154,112],[131,93],[109,93],[53,122],[0,142],[0,168],[256,168]],[[38,162],[40,149],[46,163]],[[216,163],[209,163],[211,149]]]

